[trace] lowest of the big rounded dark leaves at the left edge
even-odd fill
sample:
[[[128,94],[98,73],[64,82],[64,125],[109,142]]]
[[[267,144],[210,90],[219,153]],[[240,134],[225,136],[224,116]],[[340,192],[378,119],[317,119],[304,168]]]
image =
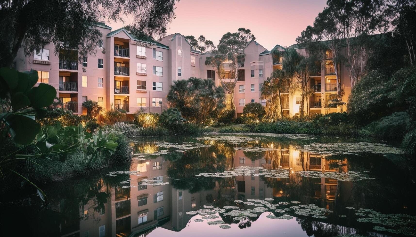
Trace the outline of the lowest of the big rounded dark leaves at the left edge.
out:
[[[7,124],[13,140],[23,145],[32,143],[40,131],[40,124],[33,116],[14,114],[7,119]]]

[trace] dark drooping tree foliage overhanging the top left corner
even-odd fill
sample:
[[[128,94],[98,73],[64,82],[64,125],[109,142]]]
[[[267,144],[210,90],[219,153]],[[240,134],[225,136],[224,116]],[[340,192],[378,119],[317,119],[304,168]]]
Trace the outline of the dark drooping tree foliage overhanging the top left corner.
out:
[[[0,2],[0,66],[10,67],[20,47],[26,55],[52,42],[54,54],[78,49],[78,59],[97,52],[100,20],[133,19],[140,38],[163,36],[175,15],[176,0],[13,0]]]

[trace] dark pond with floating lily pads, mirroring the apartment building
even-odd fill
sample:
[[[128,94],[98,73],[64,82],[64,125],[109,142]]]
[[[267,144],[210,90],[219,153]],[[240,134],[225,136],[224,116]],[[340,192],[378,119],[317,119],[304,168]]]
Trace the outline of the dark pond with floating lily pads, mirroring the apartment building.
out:
[[[299,134],[131,140],[130,167],[2,203],[26,236],[416,235],[414,160],[386,143]]]

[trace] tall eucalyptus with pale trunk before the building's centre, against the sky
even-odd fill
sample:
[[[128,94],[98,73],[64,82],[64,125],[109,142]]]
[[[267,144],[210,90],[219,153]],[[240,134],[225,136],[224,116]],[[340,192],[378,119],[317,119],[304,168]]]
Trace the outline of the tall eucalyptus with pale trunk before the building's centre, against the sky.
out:
[[[238,79],[238,69],[244,63],[244,49],[256,37],[250,29],[238,28],[237,32],[228,32],[223,35],[217,49],[211,50],[211,54],[206,58],[205,65],[214,67],[218,73],[221,86],[224,88],[227,97],[230,99],[230,107],[237,110],[234,102],[234,89]],[[225,73],[224,64],[227,64]]]

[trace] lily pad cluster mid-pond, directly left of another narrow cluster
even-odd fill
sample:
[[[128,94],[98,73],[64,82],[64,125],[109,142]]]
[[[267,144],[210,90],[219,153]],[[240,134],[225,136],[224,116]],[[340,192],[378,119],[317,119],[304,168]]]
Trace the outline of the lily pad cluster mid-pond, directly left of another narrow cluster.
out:
[[[258,172],[258,173],[256,173]],[[264,176],[267,178],[289,178],[289,171],[286,169],[264,169],[262,167],[250,167],[250,166],[238,166],[231,168],[224,172],[215,173],[199,173],[196,177],[214,177],[214,178],[226,178],[235,176]]]

